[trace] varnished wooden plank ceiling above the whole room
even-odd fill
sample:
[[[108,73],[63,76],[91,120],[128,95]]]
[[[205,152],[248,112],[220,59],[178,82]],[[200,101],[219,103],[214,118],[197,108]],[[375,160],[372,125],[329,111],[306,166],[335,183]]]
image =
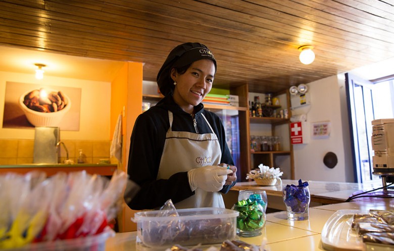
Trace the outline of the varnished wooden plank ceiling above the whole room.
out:
[[[3,0],[0,21],[0,45],[143,62],[149,81],[174,46],[199,41],[217,59],[216,86],[256,92],[394,57],[391,0]],[[311,65],[298,59],[306,44]]]

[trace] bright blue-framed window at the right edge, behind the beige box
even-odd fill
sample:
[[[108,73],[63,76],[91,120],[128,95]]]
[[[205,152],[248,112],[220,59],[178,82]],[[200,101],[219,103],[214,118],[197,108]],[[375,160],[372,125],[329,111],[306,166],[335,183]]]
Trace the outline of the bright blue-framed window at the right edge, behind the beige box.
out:
[[[394,76],[367,81],[349,73],[346,90],[356,182],[379,179],[373,175],[372,120],[394,118]]]

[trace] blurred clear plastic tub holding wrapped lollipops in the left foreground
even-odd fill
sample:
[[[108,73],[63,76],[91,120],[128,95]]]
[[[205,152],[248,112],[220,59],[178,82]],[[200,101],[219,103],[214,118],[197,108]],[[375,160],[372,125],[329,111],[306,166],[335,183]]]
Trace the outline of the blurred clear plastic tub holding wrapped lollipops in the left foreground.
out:
[[[107,228],[104,232],[75,239],[37,242],[18,248],[2,249],[4,251],[105,251],[106,241],[115,236],[114,230]]]

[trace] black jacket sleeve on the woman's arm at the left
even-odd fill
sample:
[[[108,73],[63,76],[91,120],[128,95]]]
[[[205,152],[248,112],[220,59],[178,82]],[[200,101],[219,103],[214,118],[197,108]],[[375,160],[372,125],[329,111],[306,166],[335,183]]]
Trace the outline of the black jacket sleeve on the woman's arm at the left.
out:
[[[168,199],[177,203],[194,194],[189,186],[187,172],[156,180],[165,141],[166,126],[163,123],[166,123],[163,118],[147,114],[141,114],[135,121],[127,169],[129,178],[140,186],[138,193],[128,203],[133,210],[159,208]]]

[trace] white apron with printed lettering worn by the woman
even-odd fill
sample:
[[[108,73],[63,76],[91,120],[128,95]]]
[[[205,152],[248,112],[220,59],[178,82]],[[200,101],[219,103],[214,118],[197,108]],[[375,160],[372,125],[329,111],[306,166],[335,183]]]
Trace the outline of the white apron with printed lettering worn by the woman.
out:
[[[215,166],[220,163],[222,153],[218,137],[204,114],[202,116],[212,133],[174,132],[171,129],[173,115],[168,111],[170,128],[166,134],[157,179],[168,179],[177,172],[187,172],[193,168]],[[176,203],[175,208],[224,208],[220,192],[207,192],[200,188],[194,192],[194,195]]]

